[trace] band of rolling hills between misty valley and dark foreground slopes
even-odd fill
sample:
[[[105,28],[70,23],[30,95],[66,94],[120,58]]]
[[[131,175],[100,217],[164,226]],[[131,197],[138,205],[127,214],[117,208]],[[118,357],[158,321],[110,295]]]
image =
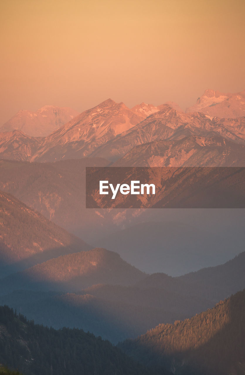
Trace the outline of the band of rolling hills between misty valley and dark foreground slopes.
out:
[[[145,277],[118,254],[94,249],[65,255],[2,279],[1,293],[10,294],[0,297],[0,303],[38,323],[55,328],[84,327],[117,342],[136,337],[160,322],[189,318],[242,289],[244,254],[225,265],[173,278],[166,274]],[[198,277],[198,273],[205,272],[206,277]],[[81,290],[86,285],[90,287]],[[11,293],[19,288],[26,290]],[[60,293],[44,293],[47,290]]]

